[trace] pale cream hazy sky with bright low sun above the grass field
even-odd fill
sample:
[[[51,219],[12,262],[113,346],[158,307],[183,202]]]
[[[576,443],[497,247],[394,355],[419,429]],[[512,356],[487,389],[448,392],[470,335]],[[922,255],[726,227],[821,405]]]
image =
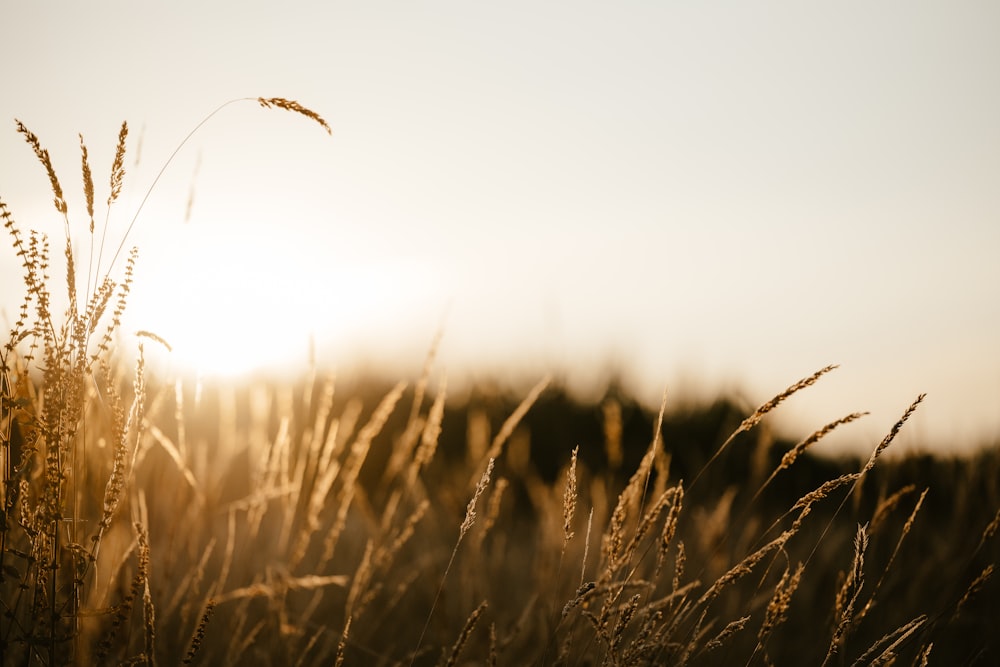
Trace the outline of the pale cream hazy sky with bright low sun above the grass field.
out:
[[[125,331],[172,344],[165,372],[313,341],[412,375],[440,331],[450,386],[621,372],[651,405],[753,407],[835,363],[776,416],[792,437],[867,410],[829,446],[868,451],[922,392],[902,446],[1000,433],[997,3],[0,0],[0,24],[0,198],[62,238],[17,118],[86,256],[78,133],[103,201],[128,121],[107,246],[149,191]],[[251,100],[184,142],[256,97],[332,135]]]

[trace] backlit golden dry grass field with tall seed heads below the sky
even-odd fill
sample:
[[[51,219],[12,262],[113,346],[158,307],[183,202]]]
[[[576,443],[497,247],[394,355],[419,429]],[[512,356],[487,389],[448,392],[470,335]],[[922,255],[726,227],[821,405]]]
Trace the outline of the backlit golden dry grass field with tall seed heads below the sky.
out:
[[[922,397],[834,461],[809,447],[860,415],[767,428],[832,367],[748,413],[580,405],[547,379],[449,400],[433,351],[395,385],[158,378],[143,346],[163,341],[118,331],[136,255],[102,264],[85,147],[81,259],[19,131],[66,220],[71,305],[53,312],[48,240],[0,200],[25,276],[0,381],[3,664],[1000,664],[1000,450],[886,455]]]

